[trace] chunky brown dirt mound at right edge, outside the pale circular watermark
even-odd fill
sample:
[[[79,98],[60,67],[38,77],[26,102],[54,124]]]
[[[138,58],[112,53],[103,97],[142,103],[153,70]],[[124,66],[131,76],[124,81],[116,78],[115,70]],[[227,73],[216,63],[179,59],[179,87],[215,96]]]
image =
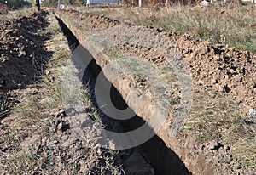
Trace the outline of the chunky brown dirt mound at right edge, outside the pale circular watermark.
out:
[[[256,55],[223,45],[169,35],[183,52],[197,85],[210,86],[256,108]]]

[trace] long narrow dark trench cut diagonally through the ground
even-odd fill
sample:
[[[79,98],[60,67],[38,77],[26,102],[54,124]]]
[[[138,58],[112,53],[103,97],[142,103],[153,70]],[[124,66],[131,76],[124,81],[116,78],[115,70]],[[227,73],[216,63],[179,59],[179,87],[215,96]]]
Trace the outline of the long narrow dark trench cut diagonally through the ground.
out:
[[[67,25],[61,19],[59,19],[56,15],[55,18],[56,20],[58,20],[64,35],[67,37],[69,48],[71,49],[71,51],[73,51],[75,48],[79,46],[79,40],[73,35],[73,32],[69,30]],[[82,49],[84,49],[84,52],[88,53],[88,50],[86,48]],[[92,57],[92,55],[90,56]],[[90,89],[95,89],[96,77],[99,75],[101,71],[102,68],[96,64],[95,59],[92,59],[90,61],[90,64],[84,71],[84,86],[89,86]],[[106,77],[104,78],[106,79],[106,81],[108,81]],[[100,90],[104,91],[105,89],[102,88]],[[91,90],[90,93],[91,101],[96,106],[96,108],[100,110],[98,104],[96,103],[96,97],[94,94],[95,92]],[[113,85],[111,87],[110,96],[113,105],[119,110],[124,110],[127,107],[129,108],[129,106],[125,103],[125,100],[122,98],[122,95],[116,88],[113,87]],[[100,110],[100,112],[102,111]],[[142,126],[145,123],[145,121],[143,121],[142,117],[140,116],[133,116],[125,121],[116,120],[106,115],[103,118],[104,120],[102,120],[102,122],[109,130],[113,130],[112,126],[115,125],[118,127],[117,129],[121,132],[131,131],[137,127]],[[140,154],[145,157],[148,163],[154,168],[154,174],[191,174],[191,172],[189,172],[188,168],[185,167],[183,161],[178,157],[178,155],[173,150],[168,148],[165,142],[156,134],[154,134],[154,137],[150,138],[144,144],[141,144],[133,149],[137,149],[140,152]],[[139,168],[139,166],[137,168]],[[137,170],[137,172],[139,172],[139,170]]]

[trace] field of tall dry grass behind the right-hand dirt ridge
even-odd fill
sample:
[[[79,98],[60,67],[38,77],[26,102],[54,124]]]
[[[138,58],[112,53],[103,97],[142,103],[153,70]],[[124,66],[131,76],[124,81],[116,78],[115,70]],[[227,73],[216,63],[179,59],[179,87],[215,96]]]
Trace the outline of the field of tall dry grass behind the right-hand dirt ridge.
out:
[[[83,11],[84,9],[80,8]],[[256,54],[256,8],[253,5],[226,4],[225,6],[170,8],[110,8],[89,9],[93,14],[189,34],[208,42],[221,43]]]

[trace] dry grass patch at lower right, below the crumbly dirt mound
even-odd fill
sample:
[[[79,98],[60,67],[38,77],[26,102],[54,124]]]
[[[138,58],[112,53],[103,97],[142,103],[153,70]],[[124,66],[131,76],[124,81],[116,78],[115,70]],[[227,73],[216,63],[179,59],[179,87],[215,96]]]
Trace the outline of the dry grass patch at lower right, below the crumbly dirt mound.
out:
[[[230,145],[232,154],[242,165],[255,168],[255,123],[242,113],[241,104],[220,94],[213,98],[208,93],[194,93],[194,104],[186,123],[189,129],[183,132],[195,133],[195,144],[218,140]]]

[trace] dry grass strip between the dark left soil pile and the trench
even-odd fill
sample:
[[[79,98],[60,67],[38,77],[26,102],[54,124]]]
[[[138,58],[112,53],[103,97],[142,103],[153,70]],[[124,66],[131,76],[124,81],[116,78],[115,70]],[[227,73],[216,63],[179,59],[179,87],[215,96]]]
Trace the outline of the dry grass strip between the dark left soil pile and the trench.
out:
[[[20,12],[22,13],[22,12]],[[26,14],[26,12],[24,12]],[[63,36],[60,26],[53,14],[49,16],[49,26],[46,31],[40,31],[41,35],[50,36],[52,39],[45,41],[45,45],[54,54],[49,59],[47,69],[40,72],[40,81],[38,83],[29,85],[27,89],[24,89],[20,104],[14,106],[12,112],[7,117],[10,121],[10,125],[5,127],[3,131],[0,129],[0,148],[8,147],[8,150],[3,152],[0,156],[0,173],[2,174],[49,174],[49,145],[46,145],[47,150],[42,152],[33,152],[30,148],[30,143],[26,143],[29,147],[28,150],[20,150],[21,144],[26,142],[26,138],[33,138],[32,141],[37,141],[37,137],[40,141],[42,138],[49,137],[49,120],[50,115],[55,109],[61,109],[62,106],[62,76],[64,67],[67,64],[67,60],[70,58],[71,53],[67,46],[66,38]],[[82,85],[81,85],[82,86]],[[101,123],[101,116],[93,106],[90,99],[90,89],[81,88],[82,99],[85,107],[90,108],[90,116]],[[2,98],[2,97],[1,97]],[[1,115],[5,110],[9,109],[9,99],[1,101]],[[3,111],[2,111],[3,110]],[[52,120],[55,120],[54,118]],[[74,131],[73,131],[74,132]],[[53,131],[53,136],[55,133]],[[108,169],[112,174],[120,174],[121,167],[116,165],[114,160],[117,155],[117,151],[103,150],[103,155],[93,153],[96,148],[91,147],[90,144],[86,144],[86,150],[90,150],[91,167],[95,168],[95,161],[102,161],[102,165],[106,165],[104,168]],[[54,149],[53,149],[54,151]],[[67,151],[67,150],[63,150]],[[86,154],[90,154],[86,153]],[[2,151],[1,151],[2,153]],[[84,154],[85,154],[84,153]],[[67,152],[65,154],[68,155]],[[85,155],[83,159],[87,159]],[[55,156],[55,155],[53,155]],[[54,159],[54,158],[53,158]],[[69,159],[69,158],[68,158]],[[53,160],[53,172],[55,170]],[[69,161],[69,160],[65,160]],[[79,171],[79,163],[76,161],[68,162],[65,170],[68,173],[77,173]],[[102,167],[98,167],[102,168]]]

